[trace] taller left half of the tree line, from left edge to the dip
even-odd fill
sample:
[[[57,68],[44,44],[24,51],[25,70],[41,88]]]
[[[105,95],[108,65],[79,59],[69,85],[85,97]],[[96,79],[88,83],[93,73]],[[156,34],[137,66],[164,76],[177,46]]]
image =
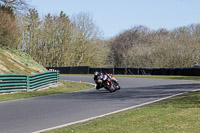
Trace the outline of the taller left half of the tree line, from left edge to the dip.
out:
[[[22,0],[16,0],[15,3],[17,1],[25,3]],[[61,11],[59,15],[47,14],[41,19],[36,9],[21,13],[17,10],[24,8],[12,8],[16,7],[14,5],[8,8],[8,2],[12,5],[12,0],[7,0],[1,6],[0,15],[6,16],[1,19],[1,26],[5,26],[5,31],[0,33],[1,45],[22,50],[44,66],[104,64],[105,54],[102,53],[105,47],[102,45],[104,41],[101,40],[101,30],[90,14],[81,12],[69,17]],[[7,9],[7,12],[3,9]],[[7,23],[10,18],[13,21]]]

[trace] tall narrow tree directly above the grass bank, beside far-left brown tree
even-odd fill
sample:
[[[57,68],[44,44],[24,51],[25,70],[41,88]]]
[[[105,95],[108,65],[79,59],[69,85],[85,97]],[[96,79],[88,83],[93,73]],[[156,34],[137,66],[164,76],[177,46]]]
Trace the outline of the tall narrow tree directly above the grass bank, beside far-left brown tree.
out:
[[[25,15],[18,15],[17,22],[20,27],[20,49],[35,57],[39,44],[40,19],[36,9],[29,9]]]

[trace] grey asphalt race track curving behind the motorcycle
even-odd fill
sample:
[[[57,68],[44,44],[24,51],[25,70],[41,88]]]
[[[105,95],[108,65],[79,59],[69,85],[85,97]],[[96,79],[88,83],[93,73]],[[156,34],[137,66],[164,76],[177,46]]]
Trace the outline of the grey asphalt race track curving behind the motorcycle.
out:
[[[61,76],[60,79],[94,83],[90,76]],[[90,89],[1,102],[0,132],[37,132],[200,89],[197,81],[118,79],[122,89],[114,93]]]

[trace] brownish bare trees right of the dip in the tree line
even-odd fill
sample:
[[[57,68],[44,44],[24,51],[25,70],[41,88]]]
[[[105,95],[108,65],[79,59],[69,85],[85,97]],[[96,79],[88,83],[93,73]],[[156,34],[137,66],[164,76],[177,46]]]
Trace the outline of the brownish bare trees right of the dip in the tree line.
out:
[[[136,26],[110,41],[115,67],[193,67],[200,59],[200,24],[174,30]]]

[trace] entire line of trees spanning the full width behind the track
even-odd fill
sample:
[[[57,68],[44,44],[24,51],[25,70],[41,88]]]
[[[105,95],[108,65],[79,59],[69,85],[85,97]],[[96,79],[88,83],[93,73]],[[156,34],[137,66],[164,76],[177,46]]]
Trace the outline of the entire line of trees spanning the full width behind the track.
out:
[[[88,13],[40,18],[25,0],[0,0],[0,18],[0,46],[24,51],[46,67],[192,67],[200,60],[200,24],[135,26],[104,40]]]

